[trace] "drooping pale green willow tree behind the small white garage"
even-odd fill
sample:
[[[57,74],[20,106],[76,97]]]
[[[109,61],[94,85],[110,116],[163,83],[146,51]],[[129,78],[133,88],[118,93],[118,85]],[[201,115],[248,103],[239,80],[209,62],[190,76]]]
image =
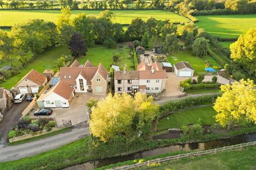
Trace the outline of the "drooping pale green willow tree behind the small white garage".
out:
[[[196,38],[192,45],[193,53],[198,57],[204,57],[207,54],[209,40],[205,38]]]

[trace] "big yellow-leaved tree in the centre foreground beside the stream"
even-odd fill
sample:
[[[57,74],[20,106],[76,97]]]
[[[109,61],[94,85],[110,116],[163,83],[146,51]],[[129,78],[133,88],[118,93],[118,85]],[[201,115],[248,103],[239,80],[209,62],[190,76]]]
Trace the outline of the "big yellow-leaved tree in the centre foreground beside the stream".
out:
[[[128,139],[138,134],[147,137],[158,107],[152,97],[140,92],[134,98],[128,94],[109,94],[92,107],[90,130],[103,142],[111,141],[116,135]]]

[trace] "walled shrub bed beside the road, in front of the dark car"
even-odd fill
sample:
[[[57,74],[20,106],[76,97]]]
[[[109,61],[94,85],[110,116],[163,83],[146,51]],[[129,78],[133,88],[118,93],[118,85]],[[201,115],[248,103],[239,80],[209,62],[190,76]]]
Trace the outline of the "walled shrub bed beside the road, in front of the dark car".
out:
[[[25,116],[20,118],[20,120],[14,125],[13,129],[9,132],[8,138],[10,142],[16,137],[27,137],[29,134],[31,136],[43,134],[45,132],[51,132],[52,128],[56,127],[57,123],[53,118],[31,118]],[[18,141],[20,139],[14,140]]]

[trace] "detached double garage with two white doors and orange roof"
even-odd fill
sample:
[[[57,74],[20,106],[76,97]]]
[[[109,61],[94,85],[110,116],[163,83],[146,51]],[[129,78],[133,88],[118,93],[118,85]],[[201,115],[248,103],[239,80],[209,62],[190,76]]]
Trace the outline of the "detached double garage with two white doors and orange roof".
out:
[[[32,69],[16,84],[14,89],[18,94],[36,94],[39,87],[45,86],[46,83],[47,77]]]

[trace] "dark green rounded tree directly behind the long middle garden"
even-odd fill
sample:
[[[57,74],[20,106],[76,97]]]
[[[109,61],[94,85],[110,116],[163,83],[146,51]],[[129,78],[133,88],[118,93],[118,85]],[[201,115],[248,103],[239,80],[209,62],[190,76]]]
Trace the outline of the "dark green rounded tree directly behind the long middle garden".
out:
[[[129,37],[130,40],[141,40],[146,30],[146,23],[140,19],[135,18],[132,20],[131,24],[126,30],[126,37]]]

